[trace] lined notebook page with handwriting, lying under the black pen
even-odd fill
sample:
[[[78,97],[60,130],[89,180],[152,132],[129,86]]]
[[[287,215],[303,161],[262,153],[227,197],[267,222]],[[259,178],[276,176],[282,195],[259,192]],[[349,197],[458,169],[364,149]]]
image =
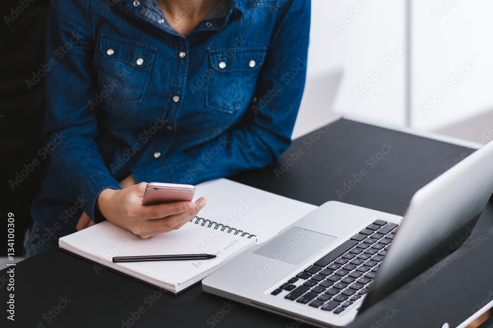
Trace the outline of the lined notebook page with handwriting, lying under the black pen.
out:
[[[204,278],[213,268],[246,251],[254,240],[193,223],[142,239],[104,221],[60,239],[60,247],[173,292]],[[244,250],[242,250],[244,249]],[[113,263],[114,256],[214,254],[208,260]],[[178,287],[180,284],[184,286]]]

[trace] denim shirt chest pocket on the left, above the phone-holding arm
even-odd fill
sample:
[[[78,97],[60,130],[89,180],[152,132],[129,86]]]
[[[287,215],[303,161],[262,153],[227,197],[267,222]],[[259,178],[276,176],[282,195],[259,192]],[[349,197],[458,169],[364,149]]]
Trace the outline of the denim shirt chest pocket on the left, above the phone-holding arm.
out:
[[[157,48],[102,34],[98,47],[98,84],[117,103],[141,102]]]

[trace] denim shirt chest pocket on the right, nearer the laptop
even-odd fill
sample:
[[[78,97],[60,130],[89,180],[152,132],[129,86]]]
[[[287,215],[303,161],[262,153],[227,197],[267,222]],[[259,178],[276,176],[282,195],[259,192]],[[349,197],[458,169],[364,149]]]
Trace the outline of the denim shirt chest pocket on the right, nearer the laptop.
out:
[[[249,105],[265,48],[209,49],[206,106],[233,113]]]

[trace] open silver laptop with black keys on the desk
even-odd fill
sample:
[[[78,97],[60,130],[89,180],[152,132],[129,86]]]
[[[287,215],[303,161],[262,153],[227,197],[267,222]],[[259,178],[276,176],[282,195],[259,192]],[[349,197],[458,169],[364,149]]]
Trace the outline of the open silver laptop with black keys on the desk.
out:
[[[492,159],[493,142],[418,190],[404,217],[327,202],[202,287],[319,327],[346,326],[470,235],[493,192]]]

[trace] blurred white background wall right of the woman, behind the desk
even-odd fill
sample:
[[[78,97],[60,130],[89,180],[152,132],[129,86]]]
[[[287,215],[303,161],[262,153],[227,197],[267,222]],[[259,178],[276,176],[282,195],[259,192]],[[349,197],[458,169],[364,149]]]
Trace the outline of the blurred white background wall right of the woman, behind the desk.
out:
[[[312,0],[293,138],[350,115],[491,140],[492,13],[491,0]]]

